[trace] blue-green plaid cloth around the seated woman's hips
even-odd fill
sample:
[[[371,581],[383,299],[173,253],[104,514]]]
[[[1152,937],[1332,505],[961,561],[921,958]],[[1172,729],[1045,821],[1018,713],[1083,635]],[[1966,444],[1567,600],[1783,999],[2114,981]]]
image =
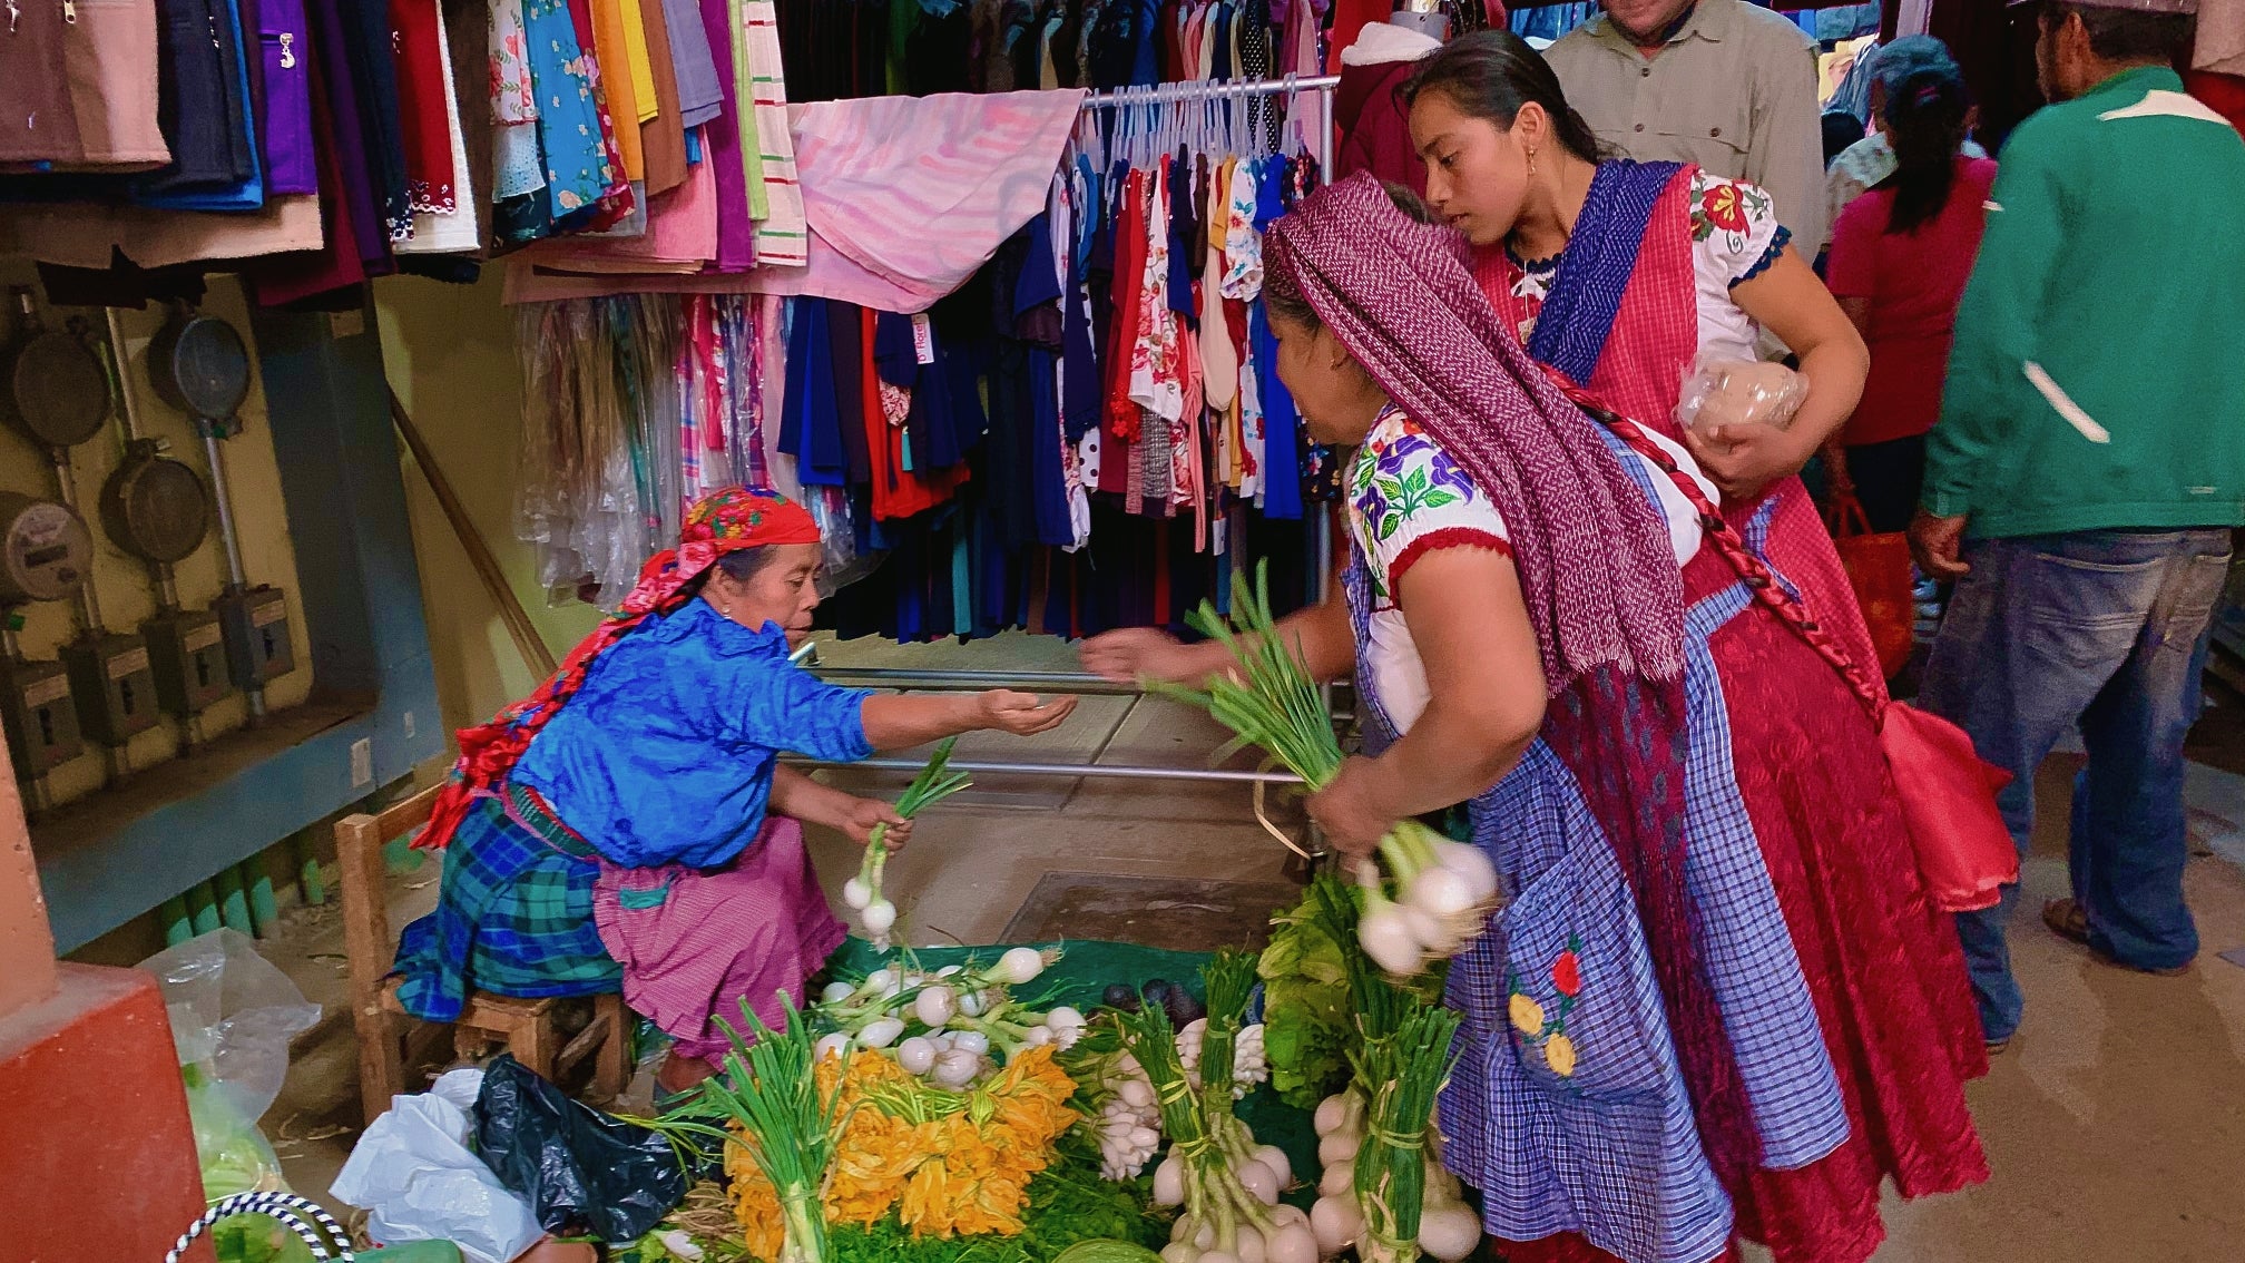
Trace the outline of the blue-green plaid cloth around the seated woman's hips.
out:
[[[436,912],[397,939],[397,1000],[431,1023],[460,1016],[467,991],[597,996],[624,966],[593,924],[590,847],[516,789],[478,802],[451,845]]]

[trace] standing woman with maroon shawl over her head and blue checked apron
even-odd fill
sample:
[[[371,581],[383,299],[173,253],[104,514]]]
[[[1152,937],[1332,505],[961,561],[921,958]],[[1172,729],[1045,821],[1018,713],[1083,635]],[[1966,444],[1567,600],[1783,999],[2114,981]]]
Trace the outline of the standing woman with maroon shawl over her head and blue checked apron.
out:
[[[1450,971],[1446,1162],[1515,1261],[1868,1259],[1881,1178],[1987,1173],[1962,962],[1868,710],[1740,580],[1693,456],[1569,402],[1401,202],[1304,200],[1264,297],[1304,422],[1358,447],[1347,600],[1282,625],[1367,728],[1309,809],[1363,852],[1466,800],[1509,897]],[[1226,665],[1152,629],[1084,661]]]

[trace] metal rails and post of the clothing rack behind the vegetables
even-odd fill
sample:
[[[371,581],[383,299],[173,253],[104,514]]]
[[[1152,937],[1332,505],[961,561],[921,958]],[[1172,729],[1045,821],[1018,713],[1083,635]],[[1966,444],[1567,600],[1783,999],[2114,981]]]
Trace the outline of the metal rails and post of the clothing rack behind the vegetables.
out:
[[[1149,88],[1116,88],[1111,92],[1091,92],[1084,97],[1084,110],[1127,110],[1138,106],[1167,106],[1176,101],[1233,101],[1244,97],[1284,97],[1284,94],[1313,94],[1316,97],[1316,130],[1309,135],[1311,157],[1318,160],[1318,175],[1331,180],[1334,175],[1334,88],[1340,85],[1338,74],[1320,76],[1298,76],[1286,74],[1282,79],[1203,79],[1192,83],[1161,83]],[[1334,584],[1334,515],[1329,506],[1318,506],[1318,530],[1316,530],[1316,566],[1318,566],[1318,600],[1331,596]],[[813,645],[804,645],[813,649]],[[801,654],[801,652],[799,652]],[[1145,690],[1136,685],[1118,685],[1102,676],[1087,672],[997,672],[997,670],[911,670],[911,667],[824,667],[817,661],[817,652],[801,654],[799,661],[808,665],[819,679],[828,681],[851,681],[869,688],[900,688],[900,690],[983,690],[983,688],[1021,688],[1030,692],[1075,692],[1075,694],[1105,694],[1105,697],[1140,697]],[[1327,710],[1331,710],[1331,690],[1327,690]],[[797,760],[790,760],[797,762]],[[840,764],[815,764],[801,760],[804,766],[840,766]],[[911,760],[862,760],[849,766],[873,769],[873,771],[918,771],[920,764]],[[1118,780],[1197,780],[1197,782],[1230,782],[1230,784],[1302,784],[1302,780],[1286,771],[1237,771],[1237,769],[1190,769],[1190,766],[1149,766],[1149,764],[1051,764],[1051,762],[959,762],[952,760],[952,771],[963,773],[986,773],[986,775],[1037,775],[1037,778],[1062,778],[1062,780],[1084,780],[1084,778],[1118,778]]]

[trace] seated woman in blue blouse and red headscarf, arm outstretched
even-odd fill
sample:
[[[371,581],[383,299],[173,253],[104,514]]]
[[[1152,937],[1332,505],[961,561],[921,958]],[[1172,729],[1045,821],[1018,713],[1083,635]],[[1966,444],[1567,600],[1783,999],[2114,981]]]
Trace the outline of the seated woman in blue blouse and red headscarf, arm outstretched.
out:
[[[685,1090],[727,1047],[741,1002],[779,993],[842,939],[801,823],[867,843],[909,834],[887,802],[779,766],[851,762],[972,730],[1044,733],[1073,697],[871,694],[788,661],[817,609],[819,528],[772,492],[727,488],[687,512],[615,618],[539,692],[460,733],[460,762],[415,845],[449,847],[436,912],[406,926],[400,1000],[456,1020],[469,989],[624,1000],[676,1045]]]

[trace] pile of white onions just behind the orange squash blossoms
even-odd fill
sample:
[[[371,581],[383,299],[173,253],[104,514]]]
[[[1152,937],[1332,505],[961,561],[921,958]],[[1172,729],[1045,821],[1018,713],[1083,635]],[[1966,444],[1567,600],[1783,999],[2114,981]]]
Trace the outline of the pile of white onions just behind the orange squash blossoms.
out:
[[[1035,982],[1060,953],[1012,948],[988,969],[943,966],[920,973],[902,964],[876,969],[855,987],[826,987],[813,1016],[833,1027],[817,1056],[849,1047],[889,1052],[907,1072],[941,1088],[965,1090],[1028,1047],[1071,1047],[1084,1016],[1066,1005],[1035,1014],[1012,987]]]

